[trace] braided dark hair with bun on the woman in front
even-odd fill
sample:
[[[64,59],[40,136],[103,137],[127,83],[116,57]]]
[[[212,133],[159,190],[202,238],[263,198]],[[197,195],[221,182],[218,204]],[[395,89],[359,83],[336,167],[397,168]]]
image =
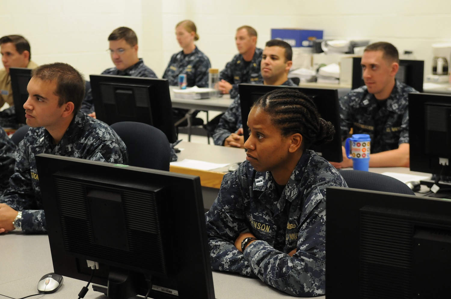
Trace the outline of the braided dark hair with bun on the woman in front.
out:
[[[315,103],[294,88],[278,88],[258,99],[252,107],[262,108],[281,129],[282,136],[299,133],[303,148],[322,145],[333,139],[335,128],[322,119]]]

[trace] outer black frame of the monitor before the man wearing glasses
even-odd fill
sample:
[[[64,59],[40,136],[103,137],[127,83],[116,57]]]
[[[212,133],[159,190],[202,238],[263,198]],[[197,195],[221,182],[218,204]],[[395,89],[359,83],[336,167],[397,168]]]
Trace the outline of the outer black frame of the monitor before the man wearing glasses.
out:
[[[115,121],[110,120],[111,115],[105,112],[104,104],[101,99],[101,84],[113,84],[122,86],[142,86],[147,87],[151,99],[149,99],[151,119],[142,119],[139,122],[147,123],[156,127],[165,133],[170,143],[177,140],[175,133],[174,119],[172,116],[172,103],[170,100],[169,83],[167,79],[129,77],[114,75],[89,75],[92,91],[92,99],[96,111],[97,119],[108,125],[114,122],[133,122],[135,118],[115,117]],[[153,100],[156,99],[156,100]]]

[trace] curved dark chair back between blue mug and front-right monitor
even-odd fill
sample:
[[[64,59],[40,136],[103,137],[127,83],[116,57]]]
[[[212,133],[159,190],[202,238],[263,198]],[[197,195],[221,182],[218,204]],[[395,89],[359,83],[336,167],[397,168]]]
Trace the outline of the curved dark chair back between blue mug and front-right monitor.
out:
[[[414,191],[402,181],[380,173],[341,170],[340,174],[350,188],[415,195]]]

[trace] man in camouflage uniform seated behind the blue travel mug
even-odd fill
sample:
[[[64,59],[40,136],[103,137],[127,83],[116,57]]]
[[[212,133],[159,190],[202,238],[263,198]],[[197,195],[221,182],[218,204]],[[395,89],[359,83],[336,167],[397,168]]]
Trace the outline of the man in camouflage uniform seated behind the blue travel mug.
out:
[[[409,167],[409,92],[414,88],[395,79],[398,50],[387,42],[368,45],[362,56],[365,86],[340,98],[342,138],[353,134],[371,137],[370,167]],[[343,162],[336,168],[352,167],[343,148]]]

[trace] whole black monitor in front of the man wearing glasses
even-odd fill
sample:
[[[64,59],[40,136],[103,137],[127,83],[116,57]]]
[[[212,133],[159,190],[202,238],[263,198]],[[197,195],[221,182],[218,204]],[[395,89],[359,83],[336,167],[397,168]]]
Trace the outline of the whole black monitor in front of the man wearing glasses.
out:
[[[163,131],[170,143],[175,135],[167,79],[90,75],[96,117],[115,122],[143,122]]]

